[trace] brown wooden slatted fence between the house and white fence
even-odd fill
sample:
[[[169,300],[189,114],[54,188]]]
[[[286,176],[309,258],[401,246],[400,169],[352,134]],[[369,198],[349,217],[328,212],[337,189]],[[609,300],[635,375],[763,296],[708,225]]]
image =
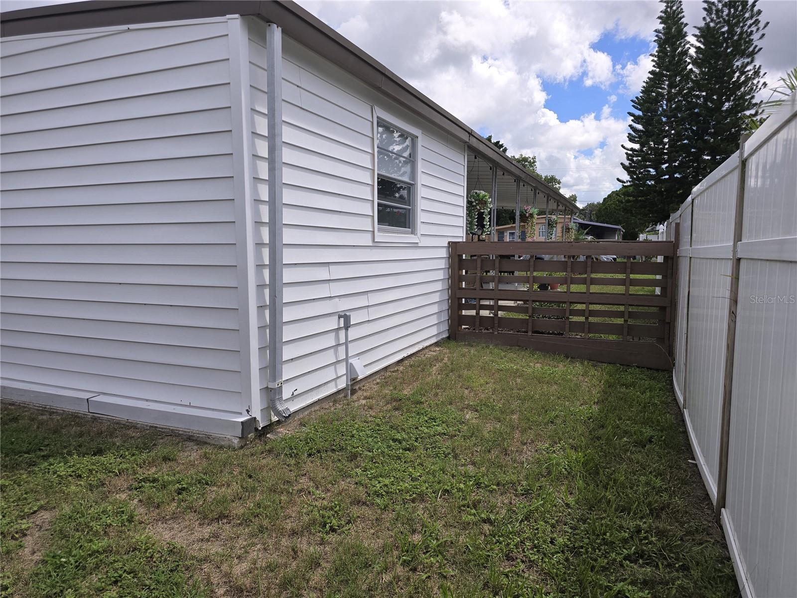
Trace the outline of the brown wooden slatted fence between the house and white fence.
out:
[[[451,339],[672,368],[674,242],[449,246]],[[598,261],[607,255],[618,261]]]

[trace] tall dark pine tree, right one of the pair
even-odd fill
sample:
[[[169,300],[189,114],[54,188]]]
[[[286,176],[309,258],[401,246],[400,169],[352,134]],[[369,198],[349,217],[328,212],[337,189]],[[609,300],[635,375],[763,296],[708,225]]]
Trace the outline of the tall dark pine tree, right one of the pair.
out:
[[[756,94],[766,84],[756,55],[756,43],[769,23],[761,22],[757,1],[703,2],[703,22],[697,27],[694,55],[693,175],[709,175],[739,149],[748,116],[760,113]]]

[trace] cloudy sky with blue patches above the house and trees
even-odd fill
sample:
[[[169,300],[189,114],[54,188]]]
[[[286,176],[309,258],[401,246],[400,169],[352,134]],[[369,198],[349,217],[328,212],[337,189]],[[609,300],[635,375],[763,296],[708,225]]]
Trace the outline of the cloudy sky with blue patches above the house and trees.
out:
[[[510,154],[537,155],[538,170],[562,179],[580,205],[619,187],[627,112],[650,69],[658,2],[299,3]],[[772,84],[797,66],[797,2],[759,6],[770,22],[759,62]],[[701,2],[684,10],[693,33]]]

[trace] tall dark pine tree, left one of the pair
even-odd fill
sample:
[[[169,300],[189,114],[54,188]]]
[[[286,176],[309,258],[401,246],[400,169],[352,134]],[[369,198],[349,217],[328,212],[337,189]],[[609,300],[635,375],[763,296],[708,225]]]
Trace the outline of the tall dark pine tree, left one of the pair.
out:
[[[631,102],[626,180],[635,210],[650,223],[663,222],[689,196],[689,107],[692,73],[680,0],[662,0],[653,68]]]

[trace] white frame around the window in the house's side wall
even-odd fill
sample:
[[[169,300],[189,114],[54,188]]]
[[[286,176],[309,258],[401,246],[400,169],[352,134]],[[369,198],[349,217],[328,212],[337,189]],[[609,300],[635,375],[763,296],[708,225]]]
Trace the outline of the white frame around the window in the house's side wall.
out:
[[[413,127],[411,124],[406,123],[404,120],[396,118],[392,114],[385,112],[382,108],[374,106],[373,110],[374,119],[374,184],[373,184],[373,199],[374,199],[374,242],[379,243],[406,243],[418,244],[421,242],[421,148],[422,148],[422,133],[420,129]],[[413,143],[413,159],[415,168],[413,172],[412,183],[414,185],[414,192],[412,197],[412,229],[411,230],[391,230],[390,228],[379,226],[379,186],[377,179],[379,177],[378,164],[377,164],[377,148],[378,143],[378,123],[379,120],[390,124],[392,127],[397,128],[399,131],[405,132],[407,135],[414,137]]]

